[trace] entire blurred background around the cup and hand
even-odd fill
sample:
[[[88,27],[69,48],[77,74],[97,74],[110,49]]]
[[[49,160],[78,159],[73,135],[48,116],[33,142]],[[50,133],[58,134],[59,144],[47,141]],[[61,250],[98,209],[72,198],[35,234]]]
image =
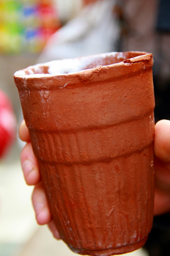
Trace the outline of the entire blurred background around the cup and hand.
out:
[[[26,185],[19,162],[24,143],[16,131],[22,112],[14,72],[53,59],[111,51],[152,52],[155,121],[170,119],[169,3],[168,0],[0,0],[0,90],[8,97],[6,100],[0,97],[0,109],[4,111],[0,112],[0,127],[10,126],[7,112],[10,117],[15,115],[10,119],[10,131],[4,128],[1,133],[0,129],[0,155],[6,151],[0,159],[0,256],[75,255],[62,241],[54,240],[46,226],[36,223],[31,203],[33,188]],[[7,149],[5,143],[9,144]],[[162,249],[170,238],[169,229],[165,230],[166,236],[156,227],[149,249],[129,255],[168,255]],[[164,235],[161,243],[160,234]]]

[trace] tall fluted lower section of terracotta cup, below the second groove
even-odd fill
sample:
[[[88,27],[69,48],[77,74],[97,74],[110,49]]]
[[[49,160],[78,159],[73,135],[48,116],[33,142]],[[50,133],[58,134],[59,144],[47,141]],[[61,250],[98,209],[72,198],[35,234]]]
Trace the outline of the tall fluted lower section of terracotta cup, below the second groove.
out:
[[[152,147],[111,162],[39,161],[53,218],[69,246],[76,250],[119,248],[148,235],[153,215]]]

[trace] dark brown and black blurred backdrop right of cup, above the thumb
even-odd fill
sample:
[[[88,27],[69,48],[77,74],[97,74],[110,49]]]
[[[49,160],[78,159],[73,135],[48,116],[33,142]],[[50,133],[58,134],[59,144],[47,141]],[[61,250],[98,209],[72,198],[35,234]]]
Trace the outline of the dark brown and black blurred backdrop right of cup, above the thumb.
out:
[[[120,51],[153,54],[155,121],[170,119],[170,1],[120,0]]]

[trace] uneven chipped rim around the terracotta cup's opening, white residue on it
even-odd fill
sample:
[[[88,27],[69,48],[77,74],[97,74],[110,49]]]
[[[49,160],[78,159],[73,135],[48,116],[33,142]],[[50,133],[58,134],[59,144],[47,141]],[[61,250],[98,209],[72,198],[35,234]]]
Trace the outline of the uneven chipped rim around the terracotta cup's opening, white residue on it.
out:
[[[127,58],[126,56],[132,55],[132,58]],[[101,60],[113,57],[118,60],[116,63],[108,64],[108,65],[100,65]],[[35,65],[31,65],[25,69],[18,70],[14,73],[14,78],[22,78],[22,79],[44,79],[44,78],[52,78],[52,77],[68,77],[70,75],[75,75],[77,74],[78,76],[84,76],[84,73],[88,76],[95,70],[103,70],[107,69],[108,67],[115,67],[115,66],[122,66],[122,65],[130,65],[133,63],[139,63],[144,60],[149,60],[152,58],[152,53],[148,52],[142,52],[142,51],[126,51],[126,52],[109,52],[109,53],[101,53],[101,54],[95,54],[95,55],[87,55],[83,57],[77,57],[77,58],[72,58],[72,59],[63,59],[63,60],[52,60],[49,62],[45,63],[38,63]],[[99,61],[100,59],[100,61]],[[81,69],[79,71],[73,71],[73,72],[56,72],[53,74],[49,73],[40,73],[38,70],[41,68],[46,69],[47,71],[51,67],[51,65],[55,65],[57,63],[83,63],[86,62],[95,62],[96,60],[99,61],[99,65],[96,65],[95,67],[92,68],[85,68]],[[120,60],[120,61],[119,61]],[[96,62],[97,63],[97,62]],[[153,65],[153,61],[151,62],[151,65]],[[37,73],[35,73],[37,72]]]

